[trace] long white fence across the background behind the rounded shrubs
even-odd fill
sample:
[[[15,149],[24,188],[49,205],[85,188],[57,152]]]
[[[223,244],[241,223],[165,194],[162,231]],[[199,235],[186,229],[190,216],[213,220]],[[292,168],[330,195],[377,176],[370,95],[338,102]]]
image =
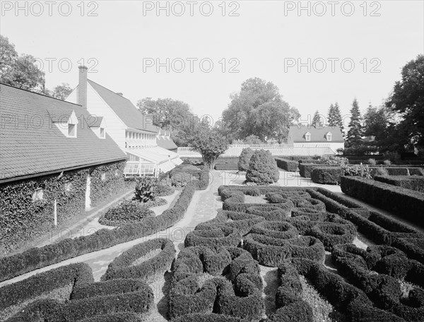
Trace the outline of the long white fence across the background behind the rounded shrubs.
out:
[[[329,145],[323,144],[310,145],[307,147],[294,147],[293,145],[245,145],[234,144],[230,145],[228,150],[223,153],[223,157],[239,157],[244,148],[251,148],[252,150],[269,150],[272,155],[333,155],[334,151],[331,150]],[[180,157],[201,157],[200,153],[194,151],[194,148],[184,147],[178,148]]]

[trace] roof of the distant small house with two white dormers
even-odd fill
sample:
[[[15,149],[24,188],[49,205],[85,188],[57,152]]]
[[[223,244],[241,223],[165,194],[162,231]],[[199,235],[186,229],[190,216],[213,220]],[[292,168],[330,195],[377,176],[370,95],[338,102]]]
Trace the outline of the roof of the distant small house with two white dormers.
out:
[[[305,134],[310,133],[310,141],[306,141]],[[326,140],[326,133],[331,133],[331,141]],[[344,142],[343,134],[341,133],[340,126],[290,126],[288,131],[288,143],[314,143],[314,142]]]

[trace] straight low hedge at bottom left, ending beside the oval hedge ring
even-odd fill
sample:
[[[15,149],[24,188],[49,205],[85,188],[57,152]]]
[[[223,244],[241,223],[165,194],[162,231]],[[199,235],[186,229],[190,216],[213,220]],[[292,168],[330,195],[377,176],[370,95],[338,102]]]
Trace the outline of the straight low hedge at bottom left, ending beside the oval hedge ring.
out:
[[[42,297],[43,294],[48,294],[69,284],[79,287],[91,282],[93,282],[93,273],[86,263],[70,264],[38,273],[0,288],[0,312],[9,306],[16,306],[29,299]]]

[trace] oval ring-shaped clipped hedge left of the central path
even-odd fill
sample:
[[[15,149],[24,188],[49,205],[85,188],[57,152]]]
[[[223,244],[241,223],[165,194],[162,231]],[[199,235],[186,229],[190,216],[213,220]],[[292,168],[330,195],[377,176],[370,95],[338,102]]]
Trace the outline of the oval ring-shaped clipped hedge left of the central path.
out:
[[[160,253],[153,258],[134,265],[134,261],[146,256],[149,252],[160,249]],[[124,251],[107,267],[102,280],[117,278],[136,278],[151,282],[158,274],[163,274],[170,268],[175,258],[175,247],[169,239],[151,239]]]

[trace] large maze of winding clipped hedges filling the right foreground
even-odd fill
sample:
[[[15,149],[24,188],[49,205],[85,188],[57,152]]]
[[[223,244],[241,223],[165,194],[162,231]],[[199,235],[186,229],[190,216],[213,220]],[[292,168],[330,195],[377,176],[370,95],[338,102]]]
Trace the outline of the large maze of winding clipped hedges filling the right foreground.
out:
[[[424,320],[420,232],[322,188],[220,186],[218,193],[223,210],[187,234],[172,266],[171,321],[312,322],[300,275],[346,321]],[[245,203],[247,194],[268,203]],[[376,245],[354,246],[357,232]],[[324,266],[326,251],[343,277]],[[258,264],[278,268],[276,309],[266,319]]]

